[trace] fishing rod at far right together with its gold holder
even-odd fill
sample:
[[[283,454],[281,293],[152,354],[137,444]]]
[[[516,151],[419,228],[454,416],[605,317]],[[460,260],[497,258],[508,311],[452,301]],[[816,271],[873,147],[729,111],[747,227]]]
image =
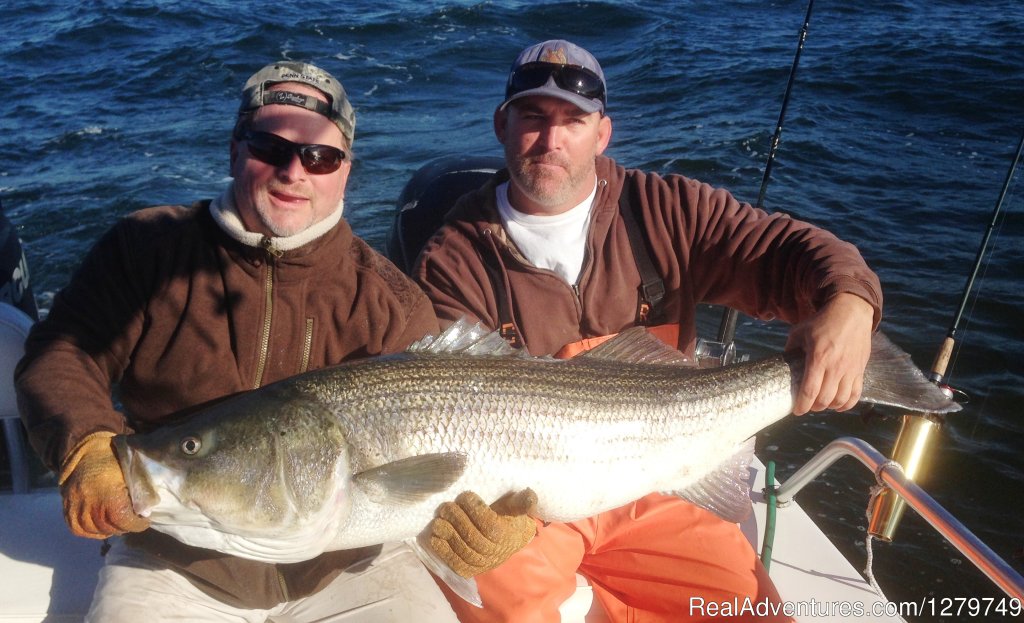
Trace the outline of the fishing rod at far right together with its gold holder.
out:
[[[961,297],[959,308],[953,315],[953,320],[949,325],[949,330],[946,332],[946,337],[942,341],[938,354],[935,356],[935,361],[932,363],[932,371],[929,374],[929,379],[950,393],[952,390],[944,384],[944,379],[947,378],[946,369],[949,366],[949,359],[952,356],[953,346],[956,342],[956,332],[959,330],[959,324],[964,318],[964,309],[967,308],[968,301],[970,300],[971,291],[974,289],[974,282],[978,277],[978,271],[981,269],[985,251],[992,237],[992,231],[995,230],[995,224],[1002,212],[1002,202],[1007,197],[1007,191],[1010,189],[1010,182],[1014,178],[1022,151],[1024,151],[1024,133],[1021,134],[1020,142],[1017,144],[1017,152],[1014,154],[1014,160],[1010,164],[1010,170],[1007,172],[1007,179],[1002,182],[1002,191],[999,193],[999,198],[995,202],[995,208],[992,210],[992,216],[988,221],[988,227],[985,230],[984,237],[982,237],[981,246],[978,248],[978,254],[974,260],[974,268],[971,271],[970,276],[968,276],[967,284],[964,286],[964,295]],[[896,443],[893,445],[892,460],[902,466],[903,473],[907,479],[913,481],[919,474],[925,471],[925,465],[927,464],[931,448],[934,446],[935,439],[938,437],[936,433],[941,425],[942,420],[932,414],[907,413],[903,415],[899,434],[896,437]],[[867,533],[884,541],[892,541],[905,508],[906,501],[903,498],[897,495],[892,489],[884,489],[874,498],[871,505],[870,523],[867,527]]]

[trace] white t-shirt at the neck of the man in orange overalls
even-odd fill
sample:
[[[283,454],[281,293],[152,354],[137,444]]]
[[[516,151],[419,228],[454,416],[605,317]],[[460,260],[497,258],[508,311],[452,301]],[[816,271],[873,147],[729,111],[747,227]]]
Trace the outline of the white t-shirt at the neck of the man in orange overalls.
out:
[[[555,215],[524,214],[509,203],[506,181],[495,190],[498,212],[505,231],[527,260],[539,268],[554,271],[575,284],[587,252],[590,208],[597,196],[597,178],[590,196],[574,208]]]

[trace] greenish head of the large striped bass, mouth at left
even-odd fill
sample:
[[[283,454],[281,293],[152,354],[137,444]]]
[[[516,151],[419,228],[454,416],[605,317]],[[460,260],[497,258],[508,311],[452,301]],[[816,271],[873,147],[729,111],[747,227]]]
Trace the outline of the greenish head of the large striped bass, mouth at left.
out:
[[[344,516],[350,473],[342,430],[322,404],[271,387],[115,438],[135,512],[200,546],[209,546],[209,535],[178,533],[272,538]]]

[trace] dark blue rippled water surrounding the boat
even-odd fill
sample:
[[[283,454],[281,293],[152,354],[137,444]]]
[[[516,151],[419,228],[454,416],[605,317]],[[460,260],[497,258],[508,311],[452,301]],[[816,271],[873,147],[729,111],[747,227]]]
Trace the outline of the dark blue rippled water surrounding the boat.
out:
[[[0,200],[40,305],[119,216],[227,181],[245,79],[276,58],[335,73],[356,108],[346,215],[383,247],[421,164],[497,155],[490,115],[526,44],[564,37],[602,61],[623,164],[757,198],[806,5],[764,2],[18,2],[0,40]],[[766,207],[827,226],[880,274],[883,328],[931,364],[1024,131],[1024,3],[818,2]],[[1020,174],[1018,175],[1018,177]],[[957,334],[972,396],[943,429],[928,488],[1024,571],[1024,191],[1014,179]],[[714,321],[712,321],[714,323]],[[784,328],[744,319],[752,355]],[[896,422],[813,416],[759,448],[780,476],[839,434],[891,448]],[[866,489],[851,461],[799,498],[856,566]],[[998,595],[916,516],[876,572],[891,598]],[[947,618],[952,620],[953,618]]]

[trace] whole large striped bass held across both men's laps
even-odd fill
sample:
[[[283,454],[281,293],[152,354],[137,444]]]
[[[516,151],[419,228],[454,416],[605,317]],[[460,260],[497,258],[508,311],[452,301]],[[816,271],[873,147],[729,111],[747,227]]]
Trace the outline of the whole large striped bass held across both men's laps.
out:
[[[750,508],[746,463],[726,459],[792,412],[802,360],[681,359],[642,328],[559,361],[457,323],[406,352],[288,378],[115,448],[153,528],[271,563],[415,547],[463,491],[489,502],[528,487],[538,516],[559,522],[674,491],[735,520]],[[958,409],[881,334],[863,400]]]

